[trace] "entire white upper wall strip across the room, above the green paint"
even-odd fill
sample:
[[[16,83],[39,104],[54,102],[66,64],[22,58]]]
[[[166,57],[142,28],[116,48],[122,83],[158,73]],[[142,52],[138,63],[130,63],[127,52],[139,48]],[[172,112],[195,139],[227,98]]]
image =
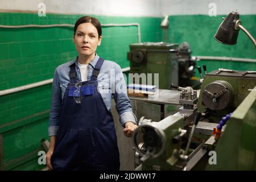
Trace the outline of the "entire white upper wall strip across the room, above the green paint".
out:
[[[208,15],[210,3],[216,4],[217,15],[236,10],[240,14],[256,14],[255,0],[1,0],[0,10],[38,11],[46,3],[47,13],[92,14],[107,16]]]

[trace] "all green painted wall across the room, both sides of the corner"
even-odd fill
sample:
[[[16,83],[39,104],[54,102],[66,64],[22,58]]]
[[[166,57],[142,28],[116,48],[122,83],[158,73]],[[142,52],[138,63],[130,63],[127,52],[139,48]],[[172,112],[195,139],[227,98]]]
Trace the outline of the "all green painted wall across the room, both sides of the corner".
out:
[[[82,15],[0,13],[0,24],[74,24]],[[162,18],[96,16],[102,24],[139,23],[142,42],[163,41],[165,34],[159,24]],[[256,35],[256,15],[241,16],[243,25]],[[187,41],[192,55],[256,57],[253,44],[240,32],[236,46],[226,46],[214,40],[221,16],[170,16],[168,42]],[[136,43],[137,27],[103,27],[102,44],[97,53],[113,60],[122,68],[129,67],[129,44]],[[0,28],[0,90],[15,88],[53,77],[55,68],[76,56],[71,27]],[[255,63],[231,61],[200,61],[208,70],[219,67],[256,70]],[[197,75],[198,76],[198,75]],[[36,165],[40,142],[48,139],[48,111],[51,84],[0,96],[0,134],[3,136],[3,160],[6,169],[40,169]],[[1,163],[1,162],[0,162]]]

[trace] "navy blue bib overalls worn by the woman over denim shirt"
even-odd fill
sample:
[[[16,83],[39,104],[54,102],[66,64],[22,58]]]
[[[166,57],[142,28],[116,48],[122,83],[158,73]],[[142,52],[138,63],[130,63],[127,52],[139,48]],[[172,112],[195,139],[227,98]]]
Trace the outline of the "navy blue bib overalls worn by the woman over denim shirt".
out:
[[[119,170],[119,151],[113,117],[98,92],[98,59],[90,81],[81,85],[81,104],[73,98],[77,89],[75,63],[59,114],[59,130],[52,154],[53,170]]]

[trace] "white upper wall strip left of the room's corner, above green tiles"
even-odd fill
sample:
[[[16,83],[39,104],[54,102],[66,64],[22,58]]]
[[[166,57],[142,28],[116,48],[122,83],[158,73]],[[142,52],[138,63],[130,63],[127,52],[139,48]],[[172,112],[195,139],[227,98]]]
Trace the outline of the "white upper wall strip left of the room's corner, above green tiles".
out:
[[[93,14],[107,16],[159,16],[160,3],[158,0],[1,0],[0,10],[29,10],[38,11],[38,4],[46,3],[48,13],[60,14]]]

